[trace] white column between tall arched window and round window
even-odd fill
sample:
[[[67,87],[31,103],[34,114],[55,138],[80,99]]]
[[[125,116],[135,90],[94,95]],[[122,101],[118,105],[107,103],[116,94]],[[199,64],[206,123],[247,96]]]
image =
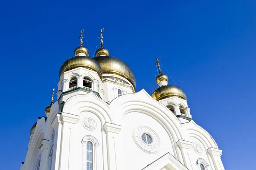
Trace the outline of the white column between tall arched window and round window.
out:
[[[108,150],[108,170],[119,170],[117,160],[121,159],[119,157],[119,140],[118,133],[122,129],[122,126],[105,123],[103,125],[105,133],[107,135],[107,150]]]

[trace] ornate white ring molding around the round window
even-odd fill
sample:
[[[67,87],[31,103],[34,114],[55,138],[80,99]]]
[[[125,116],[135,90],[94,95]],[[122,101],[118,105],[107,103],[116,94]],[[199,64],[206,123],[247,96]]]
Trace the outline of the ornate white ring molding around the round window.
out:
[[[141,139],[143,133],[147,133],[148,135],[151,136],[151,144],[146,144],[145,142],[143,142],[143,140]],[[132,133],[132,137],[134,139],[135,144],[144,152],[151,154],[158,153],[161,146],[160,139],[157,133],[150,127],[144,125],[135,127]]]

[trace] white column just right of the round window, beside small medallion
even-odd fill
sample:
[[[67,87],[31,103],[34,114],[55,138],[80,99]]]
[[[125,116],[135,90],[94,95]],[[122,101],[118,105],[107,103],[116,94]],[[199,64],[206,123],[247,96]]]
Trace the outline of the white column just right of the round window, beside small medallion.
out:
[[[190,153],[190,150],[191,150],[191,148],[193,146],[193,143],[192,142],[188,142],[188,141],[179,140],[177,142],[177,146],[181,150],[181,154],[182,154],[182,158],[183,158],[183,161],[184,161],[184,165],[189,170],[192,170],[192,165],[191,165],[189,153]]]

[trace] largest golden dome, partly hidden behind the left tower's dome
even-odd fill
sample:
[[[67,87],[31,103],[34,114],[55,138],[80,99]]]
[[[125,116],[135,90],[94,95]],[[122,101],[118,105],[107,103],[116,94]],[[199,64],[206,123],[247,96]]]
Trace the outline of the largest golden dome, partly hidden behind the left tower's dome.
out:
[[[131,84],[136,86],[135,76],[129,65],[127,65],[121,59],[111,56],[98,56],[93,59],[99,63],[102,68],[103,74],[116,74],[118,76],[124,77]]]

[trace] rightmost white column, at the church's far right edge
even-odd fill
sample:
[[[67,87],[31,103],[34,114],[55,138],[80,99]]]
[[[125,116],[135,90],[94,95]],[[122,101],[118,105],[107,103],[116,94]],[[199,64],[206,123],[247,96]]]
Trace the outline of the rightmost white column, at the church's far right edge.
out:
[[[224,166],[221,161],[222,150],[210,147],[209,149],[207,149],[207,152],[209,153],[209,155],[212,158],[212,162],[214,164],[215,169],[216,170],[224,170]]]

